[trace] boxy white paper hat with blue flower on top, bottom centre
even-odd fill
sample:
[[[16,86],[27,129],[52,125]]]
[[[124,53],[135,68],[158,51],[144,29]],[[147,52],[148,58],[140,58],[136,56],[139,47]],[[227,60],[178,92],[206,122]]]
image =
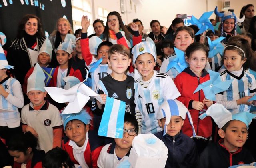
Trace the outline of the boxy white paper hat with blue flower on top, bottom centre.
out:
[[[132,141],[132,149],[129,155],[129,162],[132,167],[137,168],[144,165],[164,167],[167,160],[168,148],[164,142],[153,134],[139,134]]]

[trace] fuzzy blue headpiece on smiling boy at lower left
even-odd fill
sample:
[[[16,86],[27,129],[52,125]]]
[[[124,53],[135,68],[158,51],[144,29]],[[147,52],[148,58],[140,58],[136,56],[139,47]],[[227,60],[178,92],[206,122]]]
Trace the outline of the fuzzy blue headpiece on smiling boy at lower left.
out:
[[[92,119],[92,117],[84,109],[82,109],[79,113],[61,114],[61,118],[63,121],[64,130],[66,130],[66,125],[71,120],[80,120],[87,125],[90,124],[90,120]]]

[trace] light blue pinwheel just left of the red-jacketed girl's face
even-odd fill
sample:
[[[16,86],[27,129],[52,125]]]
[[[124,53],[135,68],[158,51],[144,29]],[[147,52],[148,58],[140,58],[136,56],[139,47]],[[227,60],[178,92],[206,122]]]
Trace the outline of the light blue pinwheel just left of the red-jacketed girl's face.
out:
[[[179,73],[181,73],[185,68],[188,67],[188,63],[185,60],[185,53],[182,50],[174,47],[176,58],[169,62],[166,72],[171,68],[175,68]]]

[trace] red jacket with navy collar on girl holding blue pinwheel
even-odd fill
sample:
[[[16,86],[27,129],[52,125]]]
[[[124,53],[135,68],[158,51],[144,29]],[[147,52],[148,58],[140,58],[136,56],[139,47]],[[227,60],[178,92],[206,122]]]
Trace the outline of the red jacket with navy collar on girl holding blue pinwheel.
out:
[[[177,98],[180,102],[182,102],[186,108],[188,108],[192,120],[193,125],[196,130],[196,135],[208,138],[212,134],[212,120],[210,116],[204,118],[204,120],[199,119],[199,110],[192,109],[192,101],[200,101],[203,102],[205,96],[204,92],[200,90],[193,94],[199,84],[210,80],[210,76],[206,70],[203,70],[202,76],[197,77],[190,68],[186,68],[183,72],[176,76],[174,83],[178,88],[181,96]],[[204,106],[204,110],[207,107]],[[191,137],[193,136],[192,127],[188,120],[184,120],[184,125],[182,126],[183,134]]]

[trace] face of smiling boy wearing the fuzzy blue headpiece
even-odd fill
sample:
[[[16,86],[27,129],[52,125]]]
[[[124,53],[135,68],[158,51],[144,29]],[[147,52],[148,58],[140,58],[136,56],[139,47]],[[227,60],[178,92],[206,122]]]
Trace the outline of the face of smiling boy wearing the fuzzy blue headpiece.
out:
[[[83,146],[86,139],[86,132],[89,130],[89,125],[85,125],[80,120],[71,120],[66,124],[65,134],[68,138],[74,141],[78,146]]]

